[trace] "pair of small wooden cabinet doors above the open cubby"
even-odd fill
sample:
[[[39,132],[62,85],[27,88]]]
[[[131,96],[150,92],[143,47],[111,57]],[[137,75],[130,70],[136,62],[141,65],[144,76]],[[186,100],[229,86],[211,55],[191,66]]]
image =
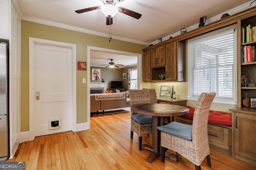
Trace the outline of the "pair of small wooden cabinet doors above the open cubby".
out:
[[[150,50],[151,67],[165,65],[165,45]]]

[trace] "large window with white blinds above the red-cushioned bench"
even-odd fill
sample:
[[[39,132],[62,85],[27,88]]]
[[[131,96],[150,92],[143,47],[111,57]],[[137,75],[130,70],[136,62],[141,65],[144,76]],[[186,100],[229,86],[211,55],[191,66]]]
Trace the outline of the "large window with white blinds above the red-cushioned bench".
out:
[[[215,101],[236,102],[235,47],[234,28],[188,40],[190,100],[197,99],[202,92],[216,92]]]

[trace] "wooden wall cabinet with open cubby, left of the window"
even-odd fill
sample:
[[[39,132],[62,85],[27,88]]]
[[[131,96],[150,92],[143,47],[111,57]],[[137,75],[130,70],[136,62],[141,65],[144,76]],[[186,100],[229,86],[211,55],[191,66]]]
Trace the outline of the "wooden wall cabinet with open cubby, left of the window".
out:
[[[157,47],[148,47],[143,52],[144,82],[186,81],[184,41],[158,44]],[[165,74],[162,80],[159,76],[161,74]]]

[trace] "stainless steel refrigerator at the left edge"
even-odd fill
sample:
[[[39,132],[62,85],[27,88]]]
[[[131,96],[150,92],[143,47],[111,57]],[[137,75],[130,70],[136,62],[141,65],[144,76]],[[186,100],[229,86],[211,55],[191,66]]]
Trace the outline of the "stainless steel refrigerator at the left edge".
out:
[[[0,43],[0,161],[9,158],[8,44]]]

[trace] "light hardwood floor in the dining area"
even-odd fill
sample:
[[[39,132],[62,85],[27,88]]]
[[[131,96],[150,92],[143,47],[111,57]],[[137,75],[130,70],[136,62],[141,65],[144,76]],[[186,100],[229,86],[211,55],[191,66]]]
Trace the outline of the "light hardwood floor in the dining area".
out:
[[[151,145],[152,136],[142,143]],[[138,149],[138,136],[130,139],[130,113],[91,117],[91,129],[36,137],[21,143],[13,159],[25,161],[26,170],[190,170],[194,164],[179,156],[177,162],[158,156],[146,161],[148,150]],[[211,150],[212,167],[206,159],[202,170],[253,170],[242,162]]]

